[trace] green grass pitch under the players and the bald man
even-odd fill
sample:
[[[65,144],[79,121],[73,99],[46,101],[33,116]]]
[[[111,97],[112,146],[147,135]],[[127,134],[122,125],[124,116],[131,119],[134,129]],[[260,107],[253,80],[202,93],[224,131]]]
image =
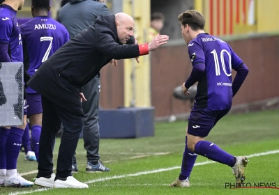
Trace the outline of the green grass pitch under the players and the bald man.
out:
[[[279,194],[279,189],[225,187],[225,183],[235,182],[230,167],[211,163],[200,156],[190,177],[190,188],[168,187],[180,173],[186,126],[187,121],[156,123],[154,137],[101,139],[100,157],[112,170],[109,173],[85,173],[86,152],[80,139],[77,146],[79,173],[73,176],[88,183],[89,189],[45,189],[34,185],[30,188],[0,187],[0,194]],[[250,155],[246,182],[275,183],[279,188],[278,109],[227,115],[206,140],[232,155]],[[60,139],[56,139],[54,168],[59,143]],[[36,162],[24,161],[23,153],[17,164],[24,178],[33,180],[36,177]]]

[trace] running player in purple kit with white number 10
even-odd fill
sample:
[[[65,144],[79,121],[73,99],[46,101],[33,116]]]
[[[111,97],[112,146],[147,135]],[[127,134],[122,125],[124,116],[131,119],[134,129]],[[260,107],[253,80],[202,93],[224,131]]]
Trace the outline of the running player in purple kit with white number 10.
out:
[[[229,112],[232,98],[246,79],[248,68],[225,41],[204,32],[205,20],[201,13],[187,10],[179,15],[178,20],[193,65],[190,77],[182,84],[182,91],[189,95],[188,88],[197,81],[198,85],[186,132],[181,173],[169,186],[190,187],[190,173],[197,155],[202,155],[231,166],[236,186],[240,187],[245,180],[247,157],[234,157],[215,143],[204,141],[204,138],[218,120]],[[237,72],[233,82],[232,69]]]

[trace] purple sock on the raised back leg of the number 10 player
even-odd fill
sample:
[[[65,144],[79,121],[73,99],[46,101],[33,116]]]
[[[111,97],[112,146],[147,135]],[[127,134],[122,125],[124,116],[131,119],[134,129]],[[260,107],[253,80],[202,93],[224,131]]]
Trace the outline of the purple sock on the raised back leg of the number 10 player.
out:
[[[198,141],[195,145],[195,153],[231,167],[236,163],[236,157],[209,141]]]

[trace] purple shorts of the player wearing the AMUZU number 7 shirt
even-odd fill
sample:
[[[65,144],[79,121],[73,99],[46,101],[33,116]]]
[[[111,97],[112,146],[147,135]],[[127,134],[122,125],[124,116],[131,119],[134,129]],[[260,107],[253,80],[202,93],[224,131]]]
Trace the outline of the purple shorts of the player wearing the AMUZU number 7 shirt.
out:
[[[33,114],[43,113],[42,96],[38,93],[27,93],[27,118]]]

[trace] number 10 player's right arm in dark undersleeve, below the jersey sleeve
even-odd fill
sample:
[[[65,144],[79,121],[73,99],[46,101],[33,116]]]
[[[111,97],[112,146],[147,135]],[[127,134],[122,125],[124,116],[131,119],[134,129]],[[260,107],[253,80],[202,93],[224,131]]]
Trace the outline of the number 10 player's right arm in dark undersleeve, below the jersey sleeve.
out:
[[[249,72],[247,66],[244,63],[242,65],[239,65],[238,68],[234,68],[234,70],[236,70],[236,76],[234,77],[234,81],[232,82],[232,97],[234,97],[237,91],[239,91],[239,88],[243,84]]]

